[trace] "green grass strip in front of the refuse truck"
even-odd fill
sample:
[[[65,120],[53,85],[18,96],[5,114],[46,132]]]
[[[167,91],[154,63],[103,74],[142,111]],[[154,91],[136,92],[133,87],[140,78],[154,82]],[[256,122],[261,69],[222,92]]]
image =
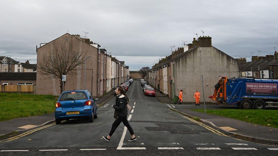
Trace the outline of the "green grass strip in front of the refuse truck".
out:
[[[191,109],[204,112],[204,109]],[[278,128],[278,110],[263,109],[207,109],[207,113],[234,118],[245,122]]]

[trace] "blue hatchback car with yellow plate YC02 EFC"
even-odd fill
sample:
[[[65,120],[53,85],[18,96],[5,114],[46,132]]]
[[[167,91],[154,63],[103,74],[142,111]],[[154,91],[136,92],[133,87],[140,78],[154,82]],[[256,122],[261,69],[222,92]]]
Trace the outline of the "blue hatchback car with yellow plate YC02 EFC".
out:
[[[88,118],[93,122],[97,118],[97,100],[88,90],[64,91],[56,103],[56,124],[73,118]]]

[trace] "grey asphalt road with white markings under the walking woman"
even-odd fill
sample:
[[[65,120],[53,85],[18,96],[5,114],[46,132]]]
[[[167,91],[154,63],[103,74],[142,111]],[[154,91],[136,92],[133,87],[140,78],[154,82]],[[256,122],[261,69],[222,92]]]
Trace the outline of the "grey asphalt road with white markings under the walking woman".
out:
[[[278,146],[238,140],[167,109],[156,97],[144,96],[138,81],[129,88],[128,97],[134,107],[128,114],[137,137],[134,142],[128,142],[130,134],[123,124],[110,142],[102,138],[115,120],[112,98],[98,109],[93,123],[69,120],[49,125],[0,143],[0,155],[278,155]]]

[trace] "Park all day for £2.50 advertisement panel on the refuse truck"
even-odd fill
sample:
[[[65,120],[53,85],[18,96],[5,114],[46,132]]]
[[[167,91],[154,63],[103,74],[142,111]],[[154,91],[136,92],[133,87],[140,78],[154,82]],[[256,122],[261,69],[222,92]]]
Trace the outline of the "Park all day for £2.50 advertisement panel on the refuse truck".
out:
[[[246,83],[246,95],[276,96],[277,84],[274,83]]]

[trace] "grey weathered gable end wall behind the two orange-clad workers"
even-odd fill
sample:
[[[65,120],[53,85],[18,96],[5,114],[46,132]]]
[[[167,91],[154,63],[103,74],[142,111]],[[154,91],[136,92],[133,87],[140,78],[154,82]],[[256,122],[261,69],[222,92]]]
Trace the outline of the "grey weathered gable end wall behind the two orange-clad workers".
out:
[[[209,96],[213,94],[219,75],[228,76],[228,78],[238,76],[236,59],[215,47],[196,47],[175,62],[177,78],[175,91],[179,93],[183,90],[184,102],[194,102],[193,95],[196,90],[203,94],[201,74],[205,88],[205,101],[209,102],[212,102]],[[203,101],[203,95],[201,95],[200,102]]]

